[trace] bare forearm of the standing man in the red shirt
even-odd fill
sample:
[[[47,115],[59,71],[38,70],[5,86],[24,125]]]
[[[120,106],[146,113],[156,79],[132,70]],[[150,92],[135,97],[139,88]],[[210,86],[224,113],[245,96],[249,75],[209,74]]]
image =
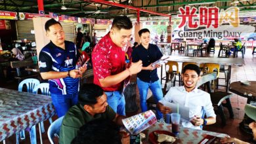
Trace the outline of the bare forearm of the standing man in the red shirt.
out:
[[[118,73],[116,75],[110,75],[108,77],[105,77],[104,79],[100,79],[100,85],[102,87],[113,86],[126,79],[129,75],[130,71],[128,69],[125,69],[125,71],[122,71],[121,73]]]

